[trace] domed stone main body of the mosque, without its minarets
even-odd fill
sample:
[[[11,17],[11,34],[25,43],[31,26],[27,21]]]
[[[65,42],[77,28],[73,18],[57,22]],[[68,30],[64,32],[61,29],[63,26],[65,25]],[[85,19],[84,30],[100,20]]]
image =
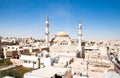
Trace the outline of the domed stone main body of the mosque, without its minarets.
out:
[[[72,40],[65,32],[58,32],[50,42],[50,51],[69,52],[77,50],[77,40]]]

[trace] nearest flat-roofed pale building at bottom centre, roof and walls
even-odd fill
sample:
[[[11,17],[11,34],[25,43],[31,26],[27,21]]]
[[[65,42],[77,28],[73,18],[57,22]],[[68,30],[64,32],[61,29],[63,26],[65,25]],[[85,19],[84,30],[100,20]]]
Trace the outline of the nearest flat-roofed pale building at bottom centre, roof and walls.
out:
[[[72,78],[70,68],[45,67],[24,74],[24,78]]]

